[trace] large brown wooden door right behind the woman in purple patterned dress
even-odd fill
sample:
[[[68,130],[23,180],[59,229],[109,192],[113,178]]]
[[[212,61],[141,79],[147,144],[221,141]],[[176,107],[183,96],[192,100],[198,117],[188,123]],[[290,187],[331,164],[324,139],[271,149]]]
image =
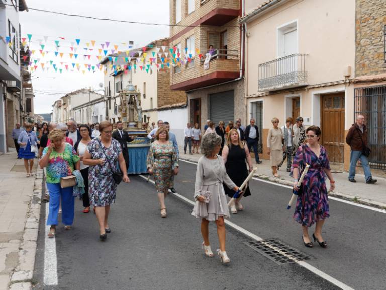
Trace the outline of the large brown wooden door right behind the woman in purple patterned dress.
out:
[[[330,162],[344,162],[344,93],[322,96],[322,138]]]

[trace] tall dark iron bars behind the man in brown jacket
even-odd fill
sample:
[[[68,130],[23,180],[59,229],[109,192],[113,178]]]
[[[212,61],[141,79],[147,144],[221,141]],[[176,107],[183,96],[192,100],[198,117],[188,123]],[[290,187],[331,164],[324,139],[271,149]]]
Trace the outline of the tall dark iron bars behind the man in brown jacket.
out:
[[[386,170],[386,85],[356,88],[354,101],[354,119],[363,115],[367,127],[369,165]]]

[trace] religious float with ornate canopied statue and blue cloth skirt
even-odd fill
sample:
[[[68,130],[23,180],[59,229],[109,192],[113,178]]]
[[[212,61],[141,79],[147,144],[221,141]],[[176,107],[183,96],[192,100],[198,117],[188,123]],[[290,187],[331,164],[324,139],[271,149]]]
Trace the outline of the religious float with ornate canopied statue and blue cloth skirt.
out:
[[[141,93],[135,87],[128,85],[119,93],[119,115],[124,129],[134,141],[127,143],[130,164],[128,174],[147,173],[146,157],[150,148],[147,132],[142,129]],[[147,120],[143,120],[147,121]]]

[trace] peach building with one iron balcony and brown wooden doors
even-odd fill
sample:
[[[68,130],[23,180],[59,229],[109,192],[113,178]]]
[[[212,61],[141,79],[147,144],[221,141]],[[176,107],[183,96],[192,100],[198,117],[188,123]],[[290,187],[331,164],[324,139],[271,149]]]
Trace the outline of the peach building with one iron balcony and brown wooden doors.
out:
[[[248,1],[246,96],[249,117],[261,130],[302,116],[322,129],[331,162],[349,164],[345,134],[354,119],[355,1]]]

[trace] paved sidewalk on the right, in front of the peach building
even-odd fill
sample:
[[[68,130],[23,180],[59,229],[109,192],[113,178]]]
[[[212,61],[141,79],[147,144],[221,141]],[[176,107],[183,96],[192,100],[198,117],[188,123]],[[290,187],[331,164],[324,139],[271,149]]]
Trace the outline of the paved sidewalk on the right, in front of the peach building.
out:
[[[179,147],[179,158],[197,162],[201,157],[201,154],[190,155],[189,152],[184,154],[183,147]],[[266,159],[261,159],[263,163],[256,164],[254,158],[252,158],[253,167],[257,167],[255,173],[256,178],[277,182],[284,185],[293,185],[293,178],[289,176],[289,172],[286,172],[286,161],[278,171],[280,178],[273,177],[270,168],[270,162]],[[364,175],[357,174],[355,176],[356,183],[348,181],[348,173],[344,171],[338,171],[332,169],[335,190],[330,192],[330,196],[339,197],[342,199],[358,202],[365,205],[374,206],[377,208],[386,209],[386,179],[378,176],[373,176],[378,182],[375,184],[366,184]],[[329,188],[329,181],[327,180],[327,188]]]

